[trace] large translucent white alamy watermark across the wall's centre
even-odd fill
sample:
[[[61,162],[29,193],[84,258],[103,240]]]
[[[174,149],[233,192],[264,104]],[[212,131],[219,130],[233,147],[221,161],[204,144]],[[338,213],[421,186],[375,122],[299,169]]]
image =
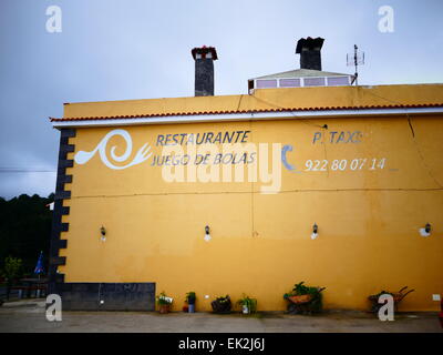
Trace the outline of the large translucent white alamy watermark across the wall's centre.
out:
[[[261,193],[281,189],[280,143],[166,145],[151,165],[165,182],[251,182]]]

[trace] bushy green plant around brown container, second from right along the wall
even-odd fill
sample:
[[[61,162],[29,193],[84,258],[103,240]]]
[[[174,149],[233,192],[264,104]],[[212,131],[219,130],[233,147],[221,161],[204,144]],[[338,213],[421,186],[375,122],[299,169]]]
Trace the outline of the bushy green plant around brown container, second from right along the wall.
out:
[[[296,284],[291,292],[284,295],[284,298],[289,301],[288,312],[293,314],[321,312],[323,307],[321,292],[324,287],[306,286],[303,283]]]

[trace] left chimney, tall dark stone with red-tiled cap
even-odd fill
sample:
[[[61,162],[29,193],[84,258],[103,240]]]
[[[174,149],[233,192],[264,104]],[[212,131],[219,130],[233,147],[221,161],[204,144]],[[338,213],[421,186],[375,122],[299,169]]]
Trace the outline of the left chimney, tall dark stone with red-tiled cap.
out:
[[[214,47],[194,48],[190,53],[195,60],[195,95],[214,97],[214,61],[217,51]]]

